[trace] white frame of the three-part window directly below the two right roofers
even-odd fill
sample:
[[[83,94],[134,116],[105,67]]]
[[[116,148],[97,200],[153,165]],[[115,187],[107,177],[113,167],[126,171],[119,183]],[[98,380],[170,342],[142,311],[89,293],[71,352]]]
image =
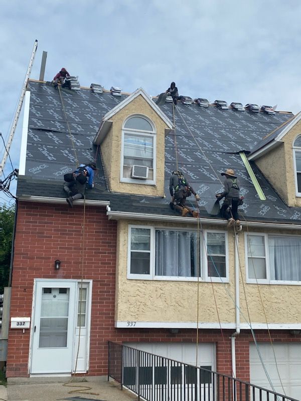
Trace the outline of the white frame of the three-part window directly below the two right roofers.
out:
[[[130,272],[130,261],[131,261],[131,229],[141,228],[148,229],[150,231],[150,261],[149,261],[149,274],[133,274]],[[129,280],[161,280],[161,281],[203,281],[203,282],[229,282],[229,251],[228,251],[228,233],[222,230],[206,230],[201,232],[200,235],[205,235],[202,239],[201,237],[201,276],[198,277],[177,277],[177,276],[156,276],[156,230],[165,231],[190,231],[196,232],[197,230],[187,230],[181,228],[168,228],[168,227],[154,227],[154,226],[140,226],[140,225],[128,225],[128,235],[127,235],[127,279]],[[226,252],[226,277],[210,277],[208,276],[208,264],[207,264],[207,233],[218,233],[225,235],[225,252]]]

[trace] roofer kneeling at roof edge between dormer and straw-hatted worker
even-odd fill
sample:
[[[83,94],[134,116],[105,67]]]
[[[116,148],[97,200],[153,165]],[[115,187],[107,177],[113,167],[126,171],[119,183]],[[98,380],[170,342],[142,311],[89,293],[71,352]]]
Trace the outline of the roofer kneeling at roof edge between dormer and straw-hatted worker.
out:
[[[181,216],[186,216],[190,213],[193,217],[198,217],[199,213],[186,206],[186,198],[192,193],[195,195],[196,200],[200,200],[200,196],[194,191],[193,187],[189,185],[187,178],[180,170],[172,172],[170,178],[170,193],[172,200],[170,207],[181,213]]]

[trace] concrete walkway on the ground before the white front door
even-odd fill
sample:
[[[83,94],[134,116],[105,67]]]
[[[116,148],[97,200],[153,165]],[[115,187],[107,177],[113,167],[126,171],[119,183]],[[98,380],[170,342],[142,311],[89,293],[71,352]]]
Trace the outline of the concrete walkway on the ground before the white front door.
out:
[[[44,378],[45,379],[45,378]],[[116,381],[88,377],[87,381],[69,382],[68,378],[56,377],[52,382],[15,382],[9,379],[8,386],[0,386],[0,401],[133,401],[135,394],[123,388]]]

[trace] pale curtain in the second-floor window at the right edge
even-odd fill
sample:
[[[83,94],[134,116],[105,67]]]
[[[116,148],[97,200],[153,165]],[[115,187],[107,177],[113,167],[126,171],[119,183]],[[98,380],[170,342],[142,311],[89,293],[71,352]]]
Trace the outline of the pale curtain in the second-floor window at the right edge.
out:
[[[269,237],[271,280],[301,281],[301,238]]]

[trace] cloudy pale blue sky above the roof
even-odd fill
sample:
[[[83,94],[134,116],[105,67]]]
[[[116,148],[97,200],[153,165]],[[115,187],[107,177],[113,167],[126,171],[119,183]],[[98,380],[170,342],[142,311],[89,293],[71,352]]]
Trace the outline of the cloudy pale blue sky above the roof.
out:
[[[34,42],[31,78],[301,110],[299,0],[0,0],[0,162]],[[18,168],[22,114],[5,166]],[[1,177],[4,179],[4,176]],[[11,185],[16,190],[16,183]],[[0,190],[0,206],[13,205]]]

